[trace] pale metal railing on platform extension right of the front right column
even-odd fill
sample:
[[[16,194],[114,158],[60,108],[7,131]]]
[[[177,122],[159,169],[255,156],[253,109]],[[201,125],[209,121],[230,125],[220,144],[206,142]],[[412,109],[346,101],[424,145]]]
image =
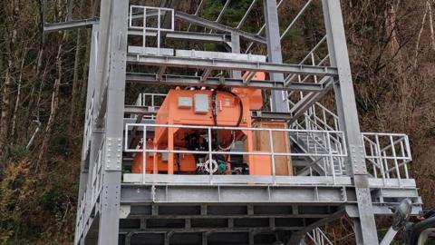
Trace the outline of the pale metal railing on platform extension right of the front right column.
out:
[[[367,169],[374,178],[410,179],[412,161],[408,135],[401,133],[363,132]]]

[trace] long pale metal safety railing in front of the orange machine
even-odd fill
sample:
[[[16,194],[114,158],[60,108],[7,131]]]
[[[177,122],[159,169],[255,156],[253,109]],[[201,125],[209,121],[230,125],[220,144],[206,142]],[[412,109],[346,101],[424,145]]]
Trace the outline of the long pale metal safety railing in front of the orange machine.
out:
[[[138,146],[130,146],[131,142],[131,135],[129,131],[133,128],[136,128],[137,130],[143,132],[141,135],[141,142],[143,139],[148,139],[147,136],[147,129],[152,129],[154,132],[157,129],[189,129],[189,130],[203,130],[204,138],[206,142],[208,143],[208,148],[203,151],[189,151],[189,150],[181,150],[181,149],[157,149],[157,148],[150,148],[147,146],[147,143],[142,143],[142,147]],[[228,151],[228,152],[222,152],[221,150],[212,150],[212,141],[216,140],[213,139],[213,131],[235,131],[235,132],[267,132],[268,133],[268,149],[269,151],[258,151],[258,152],[242,152],[242,151]],[[290,139],[291,134],[315,134],[317,137],[321,138],[325,143],[326,146],[323,150],[324,151],[313,151],[311,148],[307,149],[309,151],[306,152],[276,152],[275,146],[276,142],[274,142],[274,133],[275,132],[285,132],[287,136]],[[339,139],[340,142],[337,142],[337,139]],[[273,179],[275,180],[276,177],[276,166],[275,166],[275,158],[277,157],[313,157],[316,159],[324,159],[324,169],[329,170],[331,174],[325,174],[325,176],[329,176],[333,178],[333,182],[335,182],[336,178],[336,171],[334,170],[333,162],[336,162],[338,159],[341,159],[340,161],[343,162],[343,158],[347,156],[347,152],[343,145],[344,143],[344,137],[343,132],[333,132],[333,131],[314,131],[314,130],[296,130],[296,129],[269,129],[269,128],[244,128],[244,127],[218,127],[218,126],[197,126],[197,125],[169,125],[169,124],[147,124],[147,123],[126,123],[125,125],[125,135],[124,135],[124,152],[131,152],[131,153],[142,153],[142,170],[147,169],[147,157],[146,153],[155,154],[155,153],[165,153],[165,154],[204,154],[207,155],[208,160],[203,163],[208,170],[212,170],[216,168],[216,166],[213,166],[214,164],[214,156],[217,155],[243,155],[243,156],[269,156],[271,160],[271,175],[273,176]],[[265,142],[262,142],[265,144]],[[232,143],[234,146],[234,142]],[[308,140],[308,145],[316,145],[315,142],[311,142],[311,139]],[[335,149],[338,150],[332,150],[335,146]],[[314,146],[315,147],[315,146]],[[232,147],[234,149],[234,147]],[[146,171],[142,171],[142,181],[145,180]],[[208,174],[210,177],[213,177],[214,172],[208,171]]]

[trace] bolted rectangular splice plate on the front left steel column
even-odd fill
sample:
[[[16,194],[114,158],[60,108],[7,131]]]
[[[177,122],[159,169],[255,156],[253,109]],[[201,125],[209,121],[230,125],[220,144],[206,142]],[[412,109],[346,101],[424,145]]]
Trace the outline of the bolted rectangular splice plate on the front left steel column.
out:
[[[122,162],[122,139],[107,137],[106,158],[104,161],[105,171],[121,171]]]

